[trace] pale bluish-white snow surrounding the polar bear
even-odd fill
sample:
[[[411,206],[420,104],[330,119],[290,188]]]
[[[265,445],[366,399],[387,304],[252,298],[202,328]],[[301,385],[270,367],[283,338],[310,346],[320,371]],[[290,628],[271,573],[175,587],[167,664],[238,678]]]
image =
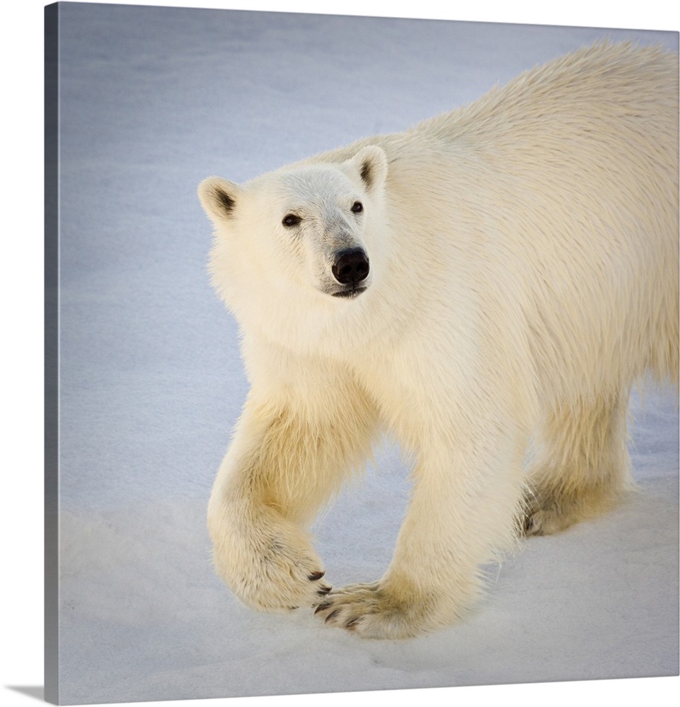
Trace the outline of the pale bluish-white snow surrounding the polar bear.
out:
[[[60,32],[60,701],[677,674],[672,390],[633,399],[640,491],[488,568],[459,626],[360,641],[231,596],[204,512],[247,384],[195,188],[405,129],[597,38],[678,35],[69,3]],[[384,445],[316,524],[332,583],[381,575],[407,496]]]

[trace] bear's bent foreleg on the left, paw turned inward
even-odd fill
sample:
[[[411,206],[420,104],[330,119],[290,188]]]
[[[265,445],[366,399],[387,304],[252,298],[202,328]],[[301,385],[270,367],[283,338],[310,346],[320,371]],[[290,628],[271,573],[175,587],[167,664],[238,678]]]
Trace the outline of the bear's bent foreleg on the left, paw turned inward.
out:
[[[349,387],[316,407],[252,392],[246,403],[214,483],[208,528],[217,573],[254,609],[311,607],[330,589],[306,529],[367,457],[376,424]],[[348,406],[339,418],[336,404]]]

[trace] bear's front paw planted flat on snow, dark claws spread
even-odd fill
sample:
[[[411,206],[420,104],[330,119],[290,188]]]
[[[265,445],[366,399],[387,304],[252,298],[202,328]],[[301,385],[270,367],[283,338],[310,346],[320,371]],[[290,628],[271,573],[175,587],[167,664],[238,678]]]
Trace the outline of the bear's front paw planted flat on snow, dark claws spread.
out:
[[[315,614],[362,638],[410,638],[433,628],[429,602],[381,586],[355,584],[330,592]]]

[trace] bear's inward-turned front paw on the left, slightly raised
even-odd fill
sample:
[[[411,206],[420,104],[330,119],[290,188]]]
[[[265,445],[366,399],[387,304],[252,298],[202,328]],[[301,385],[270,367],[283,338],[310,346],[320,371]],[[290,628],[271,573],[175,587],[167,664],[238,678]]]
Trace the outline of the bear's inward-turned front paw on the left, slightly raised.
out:
[[[330,592],[309,537],[285,522],[212,528],[217,573],[248,607],[281,612],[315,607]]]

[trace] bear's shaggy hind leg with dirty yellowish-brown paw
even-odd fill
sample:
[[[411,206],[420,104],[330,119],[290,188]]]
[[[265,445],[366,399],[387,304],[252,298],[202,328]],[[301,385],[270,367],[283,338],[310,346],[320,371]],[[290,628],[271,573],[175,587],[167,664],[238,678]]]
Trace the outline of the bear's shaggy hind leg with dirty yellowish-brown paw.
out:
[[[554,410],[529,471],[524,532],[546,535],[612,508],[630,486],[628,396],[579,399]]]

